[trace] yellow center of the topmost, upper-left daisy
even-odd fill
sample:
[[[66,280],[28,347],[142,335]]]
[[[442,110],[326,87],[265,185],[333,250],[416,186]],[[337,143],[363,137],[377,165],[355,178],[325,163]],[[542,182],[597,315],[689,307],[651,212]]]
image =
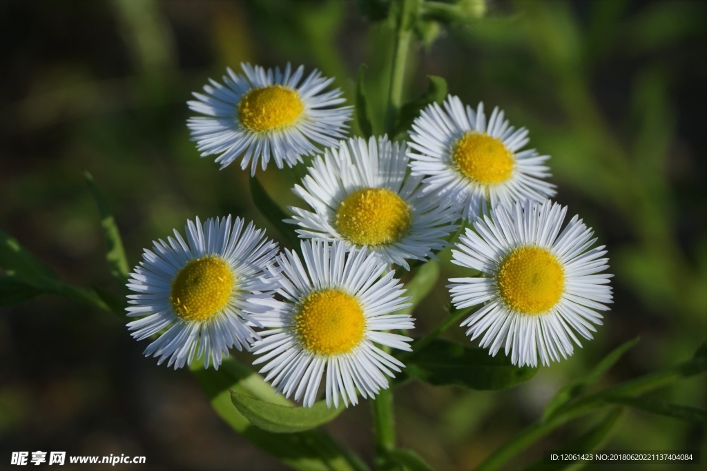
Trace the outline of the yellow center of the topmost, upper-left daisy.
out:
[[[293,124],[305,106],[296,91],[282,85],[254,88],[240,97],[238,119],[250,131],[267,132]]]

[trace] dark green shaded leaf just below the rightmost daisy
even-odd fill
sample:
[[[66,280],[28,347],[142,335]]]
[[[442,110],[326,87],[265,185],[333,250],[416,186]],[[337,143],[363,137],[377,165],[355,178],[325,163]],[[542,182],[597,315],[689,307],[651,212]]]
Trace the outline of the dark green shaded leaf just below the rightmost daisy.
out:
[[[536,368],[511,364],[501,353],[491,357],[486,350],[440,339],[415,352],[406,362],[407,372],[419,381],[477,390],[510,388],[537,372]]]

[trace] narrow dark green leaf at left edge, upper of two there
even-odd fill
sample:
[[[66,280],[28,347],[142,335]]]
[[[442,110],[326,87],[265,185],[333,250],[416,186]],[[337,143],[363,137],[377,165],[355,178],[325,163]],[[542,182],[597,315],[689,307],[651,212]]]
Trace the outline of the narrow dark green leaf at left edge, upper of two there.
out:
[[[49,288],[59,284],[59,278],[52,270],[3,231],[0,231],[0,268],[37,287]]]

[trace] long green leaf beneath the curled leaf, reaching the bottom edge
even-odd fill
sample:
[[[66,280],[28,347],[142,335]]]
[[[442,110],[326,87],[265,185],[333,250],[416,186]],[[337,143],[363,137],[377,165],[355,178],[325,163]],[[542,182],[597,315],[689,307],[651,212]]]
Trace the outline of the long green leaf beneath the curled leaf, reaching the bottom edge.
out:
[[[231,428],[270,453],[285,465],[307,471],[363,471],[368,468],[350,451],[343,448],[332,436],[321,429],[292,434],[274,434],[259,429],[233,407],[229,390],[270,403],[292,405],[281,395],[276,395],[262,376],[255,374],[235,359],[226,359],[218,370],[203,369],[203,364],[192,365],[192,373],[206,391],[211,405]]]

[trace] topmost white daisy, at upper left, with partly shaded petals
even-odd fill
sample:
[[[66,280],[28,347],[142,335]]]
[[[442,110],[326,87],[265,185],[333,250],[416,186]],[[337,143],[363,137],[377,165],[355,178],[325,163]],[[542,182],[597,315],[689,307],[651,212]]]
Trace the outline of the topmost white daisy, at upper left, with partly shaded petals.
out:
[[[218,155],[221,168],[241,157],[240,167],[250,165],[255,175],[258,160],[265,169],[270,157],[278,168],[302,162],[317,144],[335,145],[345,136],[344,124],[351,119],[351,107],[343,103],[339,88],[323,92],[333,78],[315,70],[302,81],[304,67],[284,72],[241,64],[243,75],[226,69],[225,85],[209,79],[204,94],[194,93],[187,102],[192,111],[206,117],[187,120],[192,141],[201,157]],[[301,82],[301,83],[300,83]]]

